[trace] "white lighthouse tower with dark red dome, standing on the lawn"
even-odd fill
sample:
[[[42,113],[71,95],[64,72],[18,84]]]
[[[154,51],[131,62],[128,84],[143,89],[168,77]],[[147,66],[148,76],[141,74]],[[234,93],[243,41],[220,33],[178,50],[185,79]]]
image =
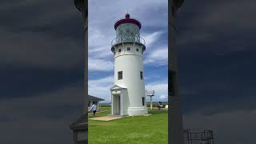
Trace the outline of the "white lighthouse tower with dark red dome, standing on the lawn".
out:
[[[114,53],[114,86],[110,88],[112,115],[147,114],[142,62],[146,46],[140,37],[141,27],[141,22],[130,18],[130,14],[114,24],[116,38],[111,42]]]

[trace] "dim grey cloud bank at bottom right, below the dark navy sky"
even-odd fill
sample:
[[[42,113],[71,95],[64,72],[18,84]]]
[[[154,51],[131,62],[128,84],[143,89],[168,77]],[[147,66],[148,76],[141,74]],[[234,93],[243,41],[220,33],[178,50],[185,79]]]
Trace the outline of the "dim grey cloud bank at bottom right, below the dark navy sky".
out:
[[[183,116],[186,128],[205,128],[214,130],[214,143],[254,144],[256,110],[234,110],[218,114],[198,113]]]

